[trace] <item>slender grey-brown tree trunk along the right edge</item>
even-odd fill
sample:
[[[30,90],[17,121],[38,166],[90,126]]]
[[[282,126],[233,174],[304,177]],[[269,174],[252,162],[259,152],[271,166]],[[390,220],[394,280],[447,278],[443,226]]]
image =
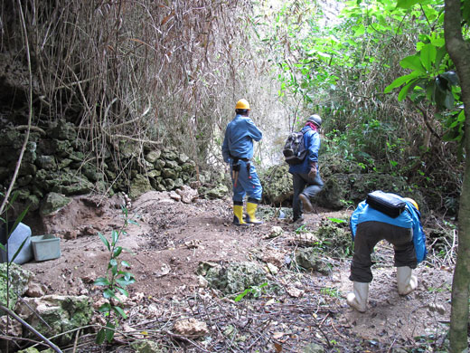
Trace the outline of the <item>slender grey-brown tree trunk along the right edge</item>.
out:
[[[458,251],[452,281],[450,352],[468,352],[468,298],[470,285],[470,44],[462,36],[460,0],[446,0],[444,31],[446,47],[462,88],[465,110],[465,174],[458,212]]]

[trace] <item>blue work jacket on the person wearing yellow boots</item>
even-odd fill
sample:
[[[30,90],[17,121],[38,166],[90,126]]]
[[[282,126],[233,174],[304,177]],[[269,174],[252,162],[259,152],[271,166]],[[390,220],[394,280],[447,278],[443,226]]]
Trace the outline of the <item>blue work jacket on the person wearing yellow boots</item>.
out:
[[[237,114],[225,129],[225,138],[222,144],[222,157],[230,163],[230,156],[238,158],[253,157],[253,140],[259,141],[263,133],[249,117]]]

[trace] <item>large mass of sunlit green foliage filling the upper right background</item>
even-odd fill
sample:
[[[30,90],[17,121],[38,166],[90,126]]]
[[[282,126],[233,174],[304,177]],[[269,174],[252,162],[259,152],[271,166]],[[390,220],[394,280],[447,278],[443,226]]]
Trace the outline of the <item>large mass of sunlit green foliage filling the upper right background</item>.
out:
[[[320,8],[287,0],[272,21],[257,23],[280,70],[280,100],[295,102],[289,124],[305,115],[298,111],[320,113],[326,152],[361,173],[403,177],[454,214],[465,116],[445,48],[443,1],[348,1],[341,22],[324,25]],[[452,143],[441,148],[442,141]]]

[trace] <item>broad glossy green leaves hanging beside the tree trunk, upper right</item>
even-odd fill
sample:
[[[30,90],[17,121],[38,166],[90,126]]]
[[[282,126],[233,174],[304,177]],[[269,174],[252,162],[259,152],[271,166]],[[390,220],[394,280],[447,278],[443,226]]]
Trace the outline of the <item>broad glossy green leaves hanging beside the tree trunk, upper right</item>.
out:
[[[400,61],[401,67],[411,72],[392,81],[384,92],[388,93],[401,87],[399,100],[408,98],[417,106],[424,101],[435,105],[437,107],[435,118],[446,131],[443,140],[461,142],[465,132],[463,129],[465,116],[456,69],[446,50],[442,15],[444,3],[423,0],[399,1],[398,7],[410,10],[417,4],[428,19],[430,31],[419,35],[416,53]],[[463,14],[468,15],[468,8],[468,2],[465,2]],[[449,112],[438,113],[442,110]]]

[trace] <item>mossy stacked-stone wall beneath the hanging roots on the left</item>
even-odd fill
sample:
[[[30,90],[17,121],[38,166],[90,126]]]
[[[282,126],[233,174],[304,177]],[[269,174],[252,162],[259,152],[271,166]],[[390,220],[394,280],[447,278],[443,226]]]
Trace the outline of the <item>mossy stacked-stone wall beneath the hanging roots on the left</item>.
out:
[[[0,130],[0,186],[9,185],[24,143],[22,126]],[[176,148],[139,147],[126,140],[117,145],[91,146],[80,138],[72,123],[58,120],[33,127],[15,183],[17,200],[41,210],[50,196],[89,193],[131,198],[149,190],[171,191],[186,185],[199,186],[210,179],[198,176],[196,164]],[[49,211],[44,207],[43,213]]]

